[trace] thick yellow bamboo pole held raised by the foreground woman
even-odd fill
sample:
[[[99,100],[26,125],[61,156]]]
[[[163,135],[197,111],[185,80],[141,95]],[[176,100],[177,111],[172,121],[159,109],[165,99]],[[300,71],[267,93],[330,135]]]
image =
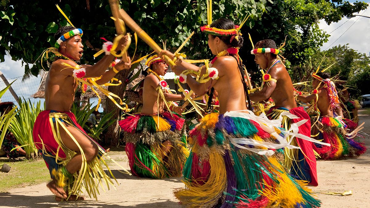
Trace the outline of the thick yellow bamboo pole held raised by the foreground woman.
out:
[[[120,14],[121,14],[121,18],[122,20],[125,22],[125,24],[131,28],[131,30],[135,31],[136,34],[142,39],[144,40],[145,43],[148,44],[149,47],[151,47],[156,53],[161,53],[162,51],[162,48],[158,46],[157,43],[154,42],[154,40],[149,37],[149,35],[147,33],[145,33],[145,31],[143,29],[141,29],[140,26],[138,26],[138,24],[135,23],[135,21],[126,13],[125,10],[121,9],[119,10]],[[164,55],[164,59],[167,63],[169,63],[171,66],[175,66],[175,63],[172,61],[171,58],[169,58],[168,56]]]

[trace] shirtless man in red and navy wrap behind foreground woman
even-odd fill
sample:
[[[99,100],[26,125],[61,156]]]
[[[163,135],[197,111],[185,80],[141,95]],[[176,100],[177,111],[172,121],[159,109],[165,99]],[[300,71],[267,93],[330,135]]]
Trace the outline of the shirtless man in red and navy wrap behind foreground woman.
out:
[[[263,76],[263,88],[259,92],[251,94],[250,100],[260,102],[271,97],[275,106],[270,108],[267,114],[269,119],[276,119],[284,111],[289,111],[299,118],[292,120],[286,118],[287,122],[283,123],[282,127],[288,130],[290,123],[306,119],[306,123],[298,127],[298,133],[310,137],[310,117],[302,107],[297,107],[293,96],[292,79],[285,66],[277,59],[277,54],[280,51],[276,49],[275,41],[261,40],[256,43],[255,48],[251,51],[252,54],[255,54],[255,62],[266,72]],[[311,185],[317,186],[316,158],[312,142],[296,138],[293,140],[293,145],[299,145],[301,150],[285,148],[284,166],[296,179],[309,181]]]

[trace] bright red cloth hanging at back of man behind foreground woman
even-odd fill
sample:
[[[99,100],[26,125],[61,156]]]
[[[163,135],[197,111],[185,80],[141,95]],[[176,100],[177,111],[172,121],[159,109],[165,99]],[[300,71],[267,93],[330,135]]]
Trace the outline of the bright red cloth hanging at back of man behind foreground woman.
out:
[[[269,110],[270,114],[273,109],[278,107],[272,107]],[[296,107],[289,110],[289,113],[296,115],[299,118],[292,119],[292,123],[297,123],[303,119],[306,119],[306,123],[300,125],[298,127],[298,133],[306,135],[307,137],[311,137],[311,121],[310,116],[307,114],[307,112],[303,109],[303,107]],[[301,148],[301,151],[303,152],[303,155],[305,156],[307,164],[310,166],[310,175],[311,175],[311,182],[310,185],[317,186],[317,171],[316,171],[316,157],[313,153],[313,150],[316,149],[316,146],[307,140],[303,140],[301,138],[296,137],[297,144]]]

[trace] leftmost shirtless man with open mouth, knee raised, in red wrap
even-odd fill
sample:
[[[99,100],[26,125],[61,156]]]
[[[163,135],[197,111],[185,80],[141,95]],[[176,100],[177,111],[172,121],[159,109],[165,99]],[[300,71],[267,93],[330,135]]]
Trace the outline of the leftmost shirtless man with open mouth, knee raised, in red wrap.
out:
[[[55,48],[58,49],[59,53],[55,54],[57,60],[51,64],[46,78],[46,108],[37,116],[33,130],[35,145],[42,153],[53,179],[47,184],[47,187],[55,194],[57,201],[67,198],[69,200],[82,199],[71,195],[71,193],[66,193],[65,187],[60,185],[60,182],[63,181],[58,181],[58,178],[56,178],[58,171],[61,171],[59,175],[62,175],[62,178],[68,178],[72,182],[73,174],[77,171],[81,172],[83,161],[86,163],[93,161],[98,155],[99,148],[101,148],[85,134],[75,121],[75,116],[71,113],[75,90],[78,86],[76,78],[102,76],[96,83],[104,84],[110,81],[119,71],[131,67],[131,61],[128,61],[128,63],[121,61],[110,70],[107,70],[115,58],[111,54],[105,55],[92,66],[78,66],[75,61],[81,59],[84,51],[81,36],[82,30],[72,26],[61,27],[55,34],[55,38],[58,40]],[[122,38],[117,50],[124,48],[126,42],[127,38]],[[67,67],[65,64],[71,67]],[[76,66],[78,69],[74,68]],[[53,118],[53,123],[49,122],[49,118]],[[54,129],[57,128],[57,119],[60,119],[65,126],[65,128],[59,128],[60,134],[57,137],[61,138],[61,141],[58,142],[57,138],[54,137],[55,134],[53,135]],[[73,125],[70,125],[66,120],[71,121]],[[60,142],[63,143],[61,150],[58,148],[60,147]],[[55,157],[58,156],[63,160],[66,157],[65,151],[67,149],[76,152],[76,154],[64,166],[57,164]],[[58,155],[56,155],[57,151],[59,151]]]

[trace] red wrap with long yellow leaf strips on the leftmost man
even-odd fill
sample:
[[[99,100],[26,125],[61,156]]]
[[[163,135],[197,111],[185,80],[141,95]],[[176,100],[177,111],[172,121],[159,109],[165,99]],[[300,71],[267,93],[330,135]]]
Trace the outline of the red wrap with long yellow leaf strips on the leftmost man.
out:
[[[93,197],[97,200],[99,189],[102,188],[105,191],[103,184],[106,185],[108,190],[114,185],[111,178],[114,180],[115,178],[106,163],[106,160],[111,160],[111,158],[106,155],[106,151],[97,142],[90,138],[92,142],[97,144],[99,151],[98,157],[95,157],[90,162],[86,162],[83,149],[66,126],[74,127],[90,138],[77,123],[73,113],[47,110],[42,111],[36,118],[33,128],[34,143],[45,160],[51,178],[56,181],[57,186],[64,187],[65,192],[68,193],[68,198],[71,195],[80,196],[85,190],[90,198]],[[77,152],[70,150],[64,145],[60,134],[61,131],[65,131],[80,149],[79,152],[83,162],[80,170],[74,174],[65,172],[65,165]],[[64,170],[64,172],[61,170]],[[68,180],[66,175],[69,175]]]

